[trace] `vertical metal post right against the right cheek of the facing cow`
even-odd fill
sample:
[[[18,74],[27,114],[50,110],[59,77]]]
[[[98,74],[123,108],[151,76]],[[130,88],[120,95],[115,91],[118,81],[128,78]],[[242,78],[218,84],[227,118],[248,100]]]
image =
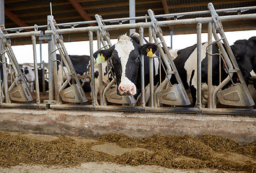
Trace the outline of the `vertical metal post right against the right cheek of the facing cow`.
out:
[[[140,27],[140,43],[144,45],[144,28]],[[144,55],[141,55],[141,107],[145,107]]]

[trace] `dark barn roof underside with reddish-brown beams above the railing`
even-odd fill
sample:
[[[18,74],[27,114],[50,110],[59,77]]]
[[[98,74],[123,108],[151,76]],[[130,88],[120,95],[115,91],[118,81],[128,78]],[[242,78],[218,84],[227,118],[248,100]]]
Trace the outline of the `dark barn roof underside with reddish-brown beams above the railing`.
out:
[[[50,2],[52,4],[53,16],[58,23],[95,20],[95,14],[100,14],[102,19],[129,17],[128,0],[5,0],[5,27],[47,25],[47,16],[50,14]],[[204,11],[208,10],[208,2],[210,1],[136,0],[136,17],[148,15],[148,9],[152,9],[154,14]],[[212,0],[211,2],[215,9],[256,6],[255,0]],[[255,12],[256,10],[253,9],[242,12],[242,14]],[[237,12],[233,12],[233,14],[237,14]],[[221,15],[227,15],[227,13],[224,12]],[[206,16],[209,16],[209,14],[194,15],[193,17]],[[179,19],[190,17],[192,16],[187,15]],[[164,18],[162,20],[164,20]],[[255,28],[255,21],[239,22],[239,26],[235,22],[227,22],[226,25],[224,25],[224,29],[228,31],[255,30]],[[165,35],[169,34],[169,29],[169,27],[163,29]],[[172,30],[175,34],[196,32],[195,27],[190,25],[173,27]],[[115,37],[115,33],[112,37]],[[76,37],[73,40],[79,40],[79,38]]]

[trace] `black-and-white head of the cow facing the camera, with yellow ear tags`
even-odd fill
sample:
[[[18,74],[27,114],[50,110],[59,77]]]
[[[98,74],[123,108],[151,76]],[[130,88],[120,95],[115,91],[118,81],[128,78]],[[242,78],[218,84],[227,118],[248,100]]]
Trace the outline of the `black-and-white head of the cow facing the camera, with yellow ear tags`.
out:
[[[118,43],[108,50],[98,50],[94,53],[94,58],[102,55],[105,60],[110,59],[115,72],[118,85],[117,93],[120,95],[135,95],[137,93],[137,78],[140,78],[140,55],[147,56],[149,52],[155,52],[157,45],[147,43],[138,44],[138,33],[128,37],[121,35]]]

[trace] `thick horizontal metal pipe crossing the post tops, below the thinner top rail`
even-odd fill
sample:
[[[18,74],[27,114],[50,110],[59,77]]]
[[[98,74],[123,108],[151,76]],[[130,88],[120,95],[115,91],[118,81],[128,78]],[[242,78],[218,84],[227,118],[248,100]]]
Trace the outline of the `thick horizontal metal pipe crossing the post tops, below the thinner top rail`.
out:
[[[221,22],[226,21],[241,21],[241,20],[252,20],[256,19],[256,14],[240,14],[240,15],[229,15],[219,17]],[[161,26],[169,26],[169,25],[186,25],[186,24],[197,24],[198,22],[204,24],[208,22],[212,22],[211,17],[198,17],[195,19],[178,19],[178,20],[167,20],[167,21],[159,21],[157,22],[158,25]],[[107,25],[105,29],[110,30],[118,30],[118,29],[130,29],[130,28],[139,28],[144,27],[148,28],[151,27],[151,22],[138,22],[136,24],[123,24],[123,25]],[[68,28],[68,29],[60,29],[58,30],[59,34],[75,34],[75,33],[84,33],[84,32],[96,32],[99,30],[99,27],[79,27],[79,28]],[[51,30],[45,30],[45,35],[50,35],[53,32]]]

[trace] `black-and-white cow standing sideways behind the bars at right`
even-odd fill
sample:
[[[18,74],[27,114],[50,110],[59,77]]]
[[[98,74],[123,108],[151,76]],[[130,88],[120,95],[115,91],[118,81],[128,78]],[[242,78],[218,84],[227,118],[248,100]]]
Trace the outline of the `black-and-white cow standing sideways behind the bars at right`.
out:
[[[237,40],[234,45],[231,45],[231,50],[234,53],[234,57],[237,60],[239,68],[244,76],[244,80],[247,84],[250,83],[252,70],[256,68],[256,58],[255,58],[255,37],[250,38],[250,40]],[[207,43],[202,44],[201,48],[201,80],[202,80],[202,89],[207,90],[208,84],[208,58],[206,53]],[[213,54],[219,53],[219,47],[216,43],[213,44]],[[184,48],[177,51],[177,57],[174,59],[175,66],[177,71],[180,74],[182,84],[185,86],[185,89],[190,89],[193,106],[195,106],[196,92],[197,92],[197,45],[192,45],[190,47]],[[213,74],[212,81],[213,86],[219,85],[219,55],[213,55]],[[216,70],[218,69],[218,70]],[[221,61],[221,80],[225,79],[228,76],[224,66],[224,62]],[[237,74],[234,74],[232,77],[234,82],[237,81]],[[171,79],[172,82],[175,82],[175,79]],[[227,87],[227,86],[225,86]],[[203,95],[207,95],[203,93]],[[207,100],[207,98],[206,98]],[[204,104],[204,103],[203,103]]]

